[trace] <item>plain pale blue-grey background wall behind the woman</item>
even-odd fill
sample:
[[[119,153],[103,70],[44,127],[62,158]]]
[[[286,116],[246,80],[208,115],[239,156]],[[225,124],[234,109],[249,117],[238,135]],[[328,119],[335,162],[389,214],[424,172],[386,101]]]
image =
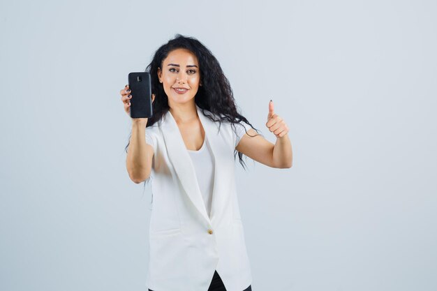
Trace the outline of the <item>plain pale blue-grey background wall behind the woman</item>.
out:
[[[119,90],[175,33],[268,140],[270,98],[290,128],[292,168],[236,161],[254,291],[437,290],[436,8],[1,1],[0,290],[146,290]]]

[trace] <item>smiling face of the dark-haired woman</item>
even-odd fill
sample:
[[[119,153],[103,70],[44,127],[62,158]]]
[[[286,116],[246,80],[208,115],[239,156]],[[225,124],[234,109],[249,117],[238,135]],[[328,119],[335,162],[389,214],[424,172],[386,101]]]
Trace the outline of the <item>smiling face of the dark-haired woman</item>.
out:
[[[186,49],[172,50],[158,68],[159,82],[168,96],[168,105],[194,102],[200,85],[198,58]]]

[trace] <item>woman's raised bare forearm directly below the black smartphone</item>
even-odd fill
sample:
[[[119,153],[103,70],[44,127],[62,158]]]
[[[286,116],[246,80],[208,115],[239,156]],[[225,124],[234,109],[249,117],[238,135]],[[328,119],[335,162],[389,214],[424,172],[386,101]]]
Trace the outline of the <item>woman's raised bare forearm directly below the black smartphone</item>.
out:
[[[132,135],[129,140],[126,168],[129,177],[136,184],[149,178],[154,149],[146,143],[147,119],[132,121]]]

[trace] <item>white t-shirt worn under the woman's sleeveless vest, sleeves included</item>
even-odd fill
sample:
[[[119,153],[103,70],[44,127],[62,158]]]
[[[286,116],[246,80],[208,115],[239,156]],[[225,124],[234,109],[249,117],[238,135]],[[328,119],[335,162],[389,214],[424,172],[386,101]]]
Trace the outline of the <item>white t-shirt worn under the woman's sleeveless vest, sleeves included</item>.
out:
[[[246,124],[244,121],[242,121],[242,124],[243,125],[235,124],[235,128],[237,131],[237,135],[235,139],[235,147],[237,147],[244,133],[246,133],[246,130],[249,130],[251,128],[251,126],[249,126],[249,124]],[[233,128],[232,128],[232,133],[235,135]],[[147,128],[146,128],[146,142],[147,144],[150,144],[152,147],[155,144],[153,135],[147,134]],[[205,203],[205,208],[207,209],[207,214],[210,215],[211,203],[212,203],[212,189],[214,186],[215,165],[214,165],[214,158],[212,157],[211,147],[209,147],[209,141],[207,139],[207,135],[205,135],[205,140],[202,144],[202,147],[198,151],[192,151],[190,149],[186,149],[186,151],[188,151],[188,154],[191,157],[191,161],[193,162],[195,175],[196,178],[198,179],[200,193],[202,193],[202,198],[203,198],[203,202]]]

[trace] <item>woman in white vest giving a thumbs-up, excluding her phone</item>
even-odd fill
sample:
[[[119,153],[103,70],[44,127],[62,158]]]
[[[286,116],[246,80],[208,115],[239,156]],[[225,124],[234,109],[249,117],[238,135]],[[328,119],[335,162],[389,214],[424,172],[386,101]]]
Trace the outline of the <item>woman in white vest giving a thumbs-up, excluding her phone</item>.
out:
[[[154,291],[247,291],[251,268],[235,187],[235,154],[269,167],[292,165],[288,126],[270,100],[276,144],[237,112],[220,64],[195,38],[158,48],[151,73],[153,117],[132,119],[129,177],[151,177],[147,287]],[[130,116],[128,85],[120,91]]]

